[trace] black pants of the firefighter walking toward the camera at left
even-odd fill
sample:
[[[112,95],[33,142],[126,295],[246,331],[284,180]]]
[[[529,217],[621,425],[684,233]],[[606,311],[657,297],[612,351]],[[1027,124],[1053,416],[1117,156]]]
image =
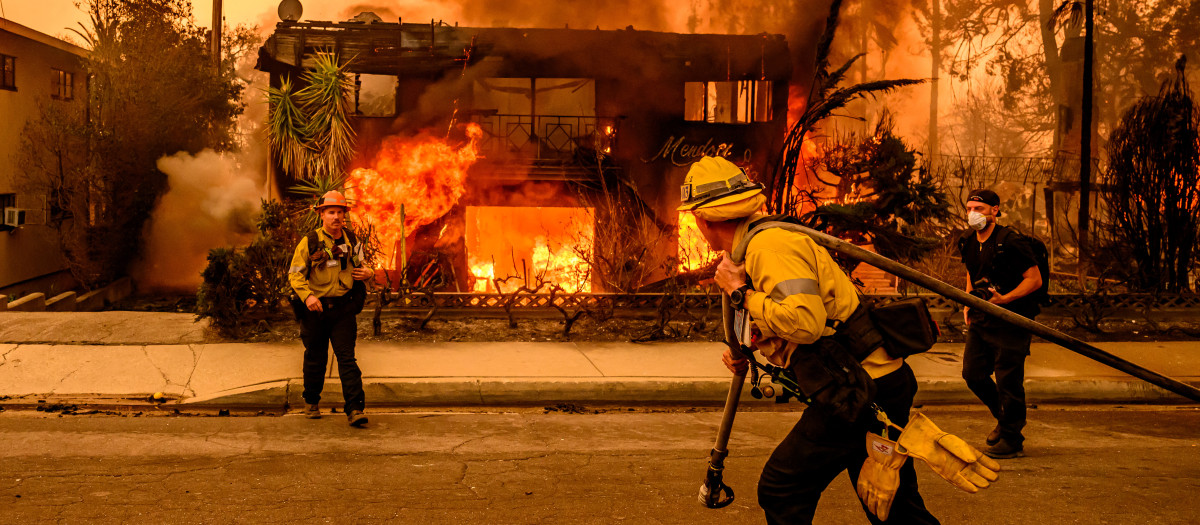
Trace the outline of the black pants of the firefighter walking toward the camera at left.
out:
[[[344,301],[322,300],[325,312],[305,312],[300,321],[300,340],[304,342],[304,400],[317,404],[325,387],[325,366],[329,363],[329,345],[334,345],[337,374],[342,379],[343,409],[362,410],[362,372],[354,358],[354,342],[358,338],[355,315],[347,312]]]

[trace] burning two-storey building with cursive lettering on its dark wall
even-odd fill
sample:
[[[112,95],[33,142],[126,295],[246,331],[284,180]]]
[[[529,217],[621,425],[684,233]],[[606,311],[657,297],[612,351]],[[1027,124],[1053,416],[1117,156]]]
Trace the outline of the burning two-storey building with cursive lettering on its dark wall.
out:
[[[472,288],[468,257],[496,259],[497,276],[522,272],[516,261],[528,249],[514,255],[509,249],[480,253],[478,246],[516,228],[522,217],[545,216],[546,207],[588,206],[595,199],[586,192],[600,187],[601,179],[631,192],[630,212],[658,224],[659,231],[647,235],[662,242],[642,259],[670,255],[688,167],[703,155],[720,155],[757,177],[786,134],[792,61],[781,35],[458,28],[385,23],[364,13],[341,23],[280,23],[257,67],[278,86],[283,78],[296,82],[323,50],[350,60],[358,86],[352,168],[370,168],[390,134],[444,134],[451,120],[481,126],[481,159],[467,175],[463,197],[443,219],[410,231],[407,243],[410,251],[436,242],[455,260],[458,283],[444,288],[449,291]],[[292,182],[281,179],[280,187]],[[485,213],[499,216],[480,218]],[[611,231],[599,224],[589,229],[598,242],[611,242],[605,237]],[[442,239],[448,230],[466,239],[448,242]]]

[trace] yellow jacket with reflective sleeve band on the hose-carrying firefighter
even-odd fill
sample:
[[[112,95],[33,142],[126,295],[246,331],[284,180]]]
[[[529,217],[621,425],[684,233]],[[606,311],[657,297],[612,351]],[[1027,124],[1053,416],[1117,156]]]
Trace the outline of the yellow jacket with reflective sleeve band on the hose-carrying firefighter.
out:
[[[745,237],[751,216],[738,225],[733,246]],[[755,346],[773,364],[787,367],[792,352],[834,330],[826,320],[845,320],[858,308],[858,292],[824,247],[808,235],[782,228],[760,231],[745,252],[745,271],[754,290],[745,306],[761,333]],[[887,375],[902,363],[883,348],[863,360],[871,378]]]

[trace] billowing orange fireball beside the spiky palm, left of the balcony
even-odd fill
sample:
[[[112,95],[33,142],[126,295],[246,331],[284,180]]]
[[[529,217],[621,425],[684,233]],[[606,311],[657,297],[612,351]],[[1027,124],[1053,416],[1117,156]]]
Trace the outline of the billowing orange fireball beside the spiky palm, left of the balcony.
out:
[[[428,134],[386,137],[379,145],[374,168],[350,171],[347,189],[354,200],[354,213],[376,225],[385,264],[395,260],[402,231],[412,235],[437,221],[466,192],[467,169],[479,158],[478,144],[484,137],[476,123],[467,125],[466,131],[467,144],[457,149]]]

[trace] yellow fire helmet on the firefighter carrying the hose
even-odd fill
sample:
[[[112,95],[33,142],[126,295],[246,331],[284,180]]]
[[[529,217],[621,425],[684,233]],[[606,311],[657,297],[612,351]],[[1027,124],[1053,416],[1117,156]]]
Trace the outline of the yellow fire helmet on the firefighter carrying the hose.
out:
[[[688,170],[683,186],[679,188],[679,199],[683,201],[678,211],[707,210],[718,206],[738,203],[737,207],[745,207],[754,203],[742,203],[752,199],[757,203],[754,210],[744,215],[750,215],[762,206],[762,185],[754,182],[746,176],[745,170],[738,168],[724,157],[704,157],[696,161]],[[758,199],[754,199],[758,197]],[[725,213],[720,213],[725,215]]]

